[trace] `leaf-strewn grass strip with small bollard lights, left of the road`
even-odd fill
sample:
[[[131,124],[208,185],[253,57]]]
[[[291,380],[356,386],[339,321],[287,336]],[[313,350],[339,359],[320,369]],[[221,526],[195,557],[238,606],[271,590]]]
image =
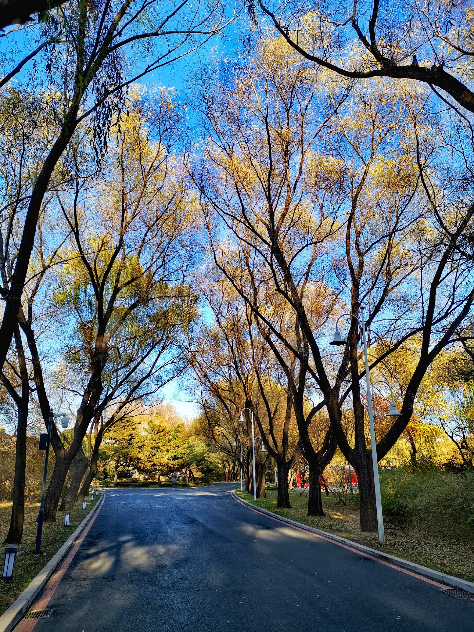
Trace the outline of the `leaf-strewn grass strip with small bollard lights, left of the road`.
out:
[[[76,502],[73,511],[71,511],[71,523],[68,528],[64,528],[64,514],[60,511],[58,511],[56,523],[45,523],[41,540],[42,554],[40,555],[35,555],[36,518],[38,516],[39,502],[25,506],[23,539],[21,544],[18,545],[15,568],[13,568],[13,581],[11,583],[0,581],[0,614],[6,611],[9,605],[13,604],[16,597],[25,590],[33,577],[46,566],[47,562],[58,552],[99,499],[100,494],[99,497],[95,496],[93,502],[87,501],[87,509],[85,511],[82,509],[82,502]],[[0,542],[3,542],[8,533],[10,515],[11,502],[0,502]],[[4,549],[2,549],[1,556],[2,569],[3,551]]]

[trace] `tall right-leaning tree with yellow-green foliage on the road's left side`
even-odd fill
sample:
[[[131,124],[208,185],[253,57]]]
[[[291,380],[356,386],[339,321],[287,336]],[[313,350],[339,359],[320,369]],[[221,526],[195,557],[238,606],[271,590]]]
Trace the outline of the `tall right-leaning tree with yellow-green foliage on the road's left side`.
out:
[[[183,113],[167,90],[134,93],[117,124],[113,161],[93,188],[56,189],[70,263],[59,270],[66,358],[82,384],[71,446],[56,457],[45,501],[54,520],[64,479],[90,423],[114,401],[127,401],[179,372],[181,332],[193,319],[186,284],[195,220],[185,174],[173,151]],[[92,227],[94,227],[92,229]],[[66,320],[64,320],[66,319]],[[77,492],[77,489],[76,489]]]

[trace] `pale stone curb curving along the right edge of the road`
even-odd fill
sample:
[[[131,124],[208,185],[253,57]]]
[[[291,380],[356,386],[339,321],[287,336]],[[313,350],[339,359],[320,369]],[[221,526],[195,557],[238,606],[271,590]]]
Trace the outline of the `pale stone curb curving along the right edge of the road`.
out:
[[[237,502],[241,502],[246,506],[253,509],[253,511],[257,511],[258,513],[264,514],[264,516],[270,516],[270,518],[276,518],[277,520],[284,522],[288,525],[294,526],[298,529],[302,529],[304,531],[308,531],[310,533],[314,533],[314,535],[319,535],[326,540],[333,540],[337,542],[337,544],[342,544],[345,547],[349,547],[350,549],[356,549],[357,552],[361,554],[365,554],[370,557],[376,557],[381,561],[389,562],[394,566],[399,566],[401,569],[406,569],[411,573],[416,573],[418,575],[422,575],[423,577],[427,577],[430,580],[439,581],[439,583],[446,584],[446,586],[451,586],[452,588],[461,588],[461,590],[465,590],[468,593],[474,594],[474,583],[471,581],[461,580],[458,577],[453,577],[453,575],[448,575],[446,573],[440,573],[439,571],[434,571],[432,568],[427,568],[427,566],[420,566],[419,564],[415,564],[414,562],[408,562],[406,559],[401,559],[400,557],[395,557],[389,555],[388,553],[384,553],[378,549],[371,549],[370,547],[366,547],[363,544],[358,544],[353,540],[348,540],[347,538],[342,538],[339,535],[334,535],[333,533],[329,533],[327,531],[322,531],[321,529],[315,529],[312,526],[303,525],[301,522],[296,522],[295,520],[290,520],[289,518],[284,518],[284,516],[279,516],[279,514],[273,513],[272,511],[268,511],[267,509],[263,509],[262,507],[257,507],[253,505],[251,502],[244,501],[243,498],[240,498],[235,490],[231,492],[234,499]],[[1,628],[0,628],[0,632]]]

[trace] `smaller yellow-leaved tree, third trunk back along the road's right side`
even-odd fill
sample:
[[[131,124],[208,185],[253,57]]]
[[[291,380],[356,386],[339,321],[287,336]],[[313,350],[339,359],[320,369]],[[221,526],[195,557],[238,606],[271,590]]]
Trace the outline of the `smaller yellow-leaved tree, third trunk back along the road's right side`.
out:
[[[289,507],[288,473],[299,456],[300,443],[295,432],[293,404],[286,376],[255,327],[252,312],[228,279],[219,273],[212,275],[210,271],[204,277],[202,293],[214,314],[216,331],[205,332],[204,346],[208,343],[207,348],[200,347],[193,353],[193,368],[209,394],[224,399],[221,400],[224,406],[226,396],[228,398],[233,391],[234,382],[240,382],[238,390],[251,403],[258,432],[267,449],[265,457],[270,456],[277,464],[277,506]],[[211,345],[209,340],[213,341]],[[230,380],[224,375],[224,367],[231,367]],[[294,373],[294,363],[290,370]],[[234,414],[238,415],[240,411]],[[235,440],[234,454],[240,460],[238,426],[234,430],[237,434],[231,432],[228,444],[230,447],[231,439]],[[257,444],[257,447],[260,445]],[[262,483],[263,470],[258,467]],[[258,489],[259,494],[260,491]]]

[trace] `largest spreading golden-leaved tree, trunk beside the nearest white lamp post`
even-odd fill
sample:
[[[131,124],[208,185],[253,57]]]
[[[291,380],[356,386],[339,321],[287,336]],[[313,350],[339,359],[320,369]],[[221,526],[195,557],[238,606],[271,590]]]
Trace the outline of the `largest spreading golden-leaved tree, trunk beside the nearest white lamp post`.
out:
[[[317,406],[326,407],[337,444],[357,472],[361,528],[375,530],[360,308],[369,344],[377,340],[372,367],[422,336],[401,415],[377,444],[380,460],[410,422],[423,376],[472,305],[470,246],[459,244],[467,243],[474,207],[458,203],[471,190],[469,155],[458,162],[459,145],[432,142],[434,119],[423,109],[424,95],[413,99],[410,86],[389,93],[387,85],[366,83],[344,99],[344,83],[324,73],[315,80],[316,69],[291,51],[270,36],[234,70],[233,88],[230,82],[225,90],[206,86],[209,140],[195,182],[216,265],[263,325],[269,344],[274,337],[298,359],[298,388],[317,393]],[[459,180],[442,167],[448,156],[459,166]],[[437,195],[441,180],[443,197]],[[218,218],[234,248],[222,242]],[[255,283],[255,270],[266,287]],[[276,310],[267,308],[276,293],[295,315],[295,337],[283,336],[272,319]],[[343,353],[327,353],[327,327],[341,312],[349,313]],[[353,445],[341,423],[349,396]],[[301,413],[302,441],[304,427]]]

